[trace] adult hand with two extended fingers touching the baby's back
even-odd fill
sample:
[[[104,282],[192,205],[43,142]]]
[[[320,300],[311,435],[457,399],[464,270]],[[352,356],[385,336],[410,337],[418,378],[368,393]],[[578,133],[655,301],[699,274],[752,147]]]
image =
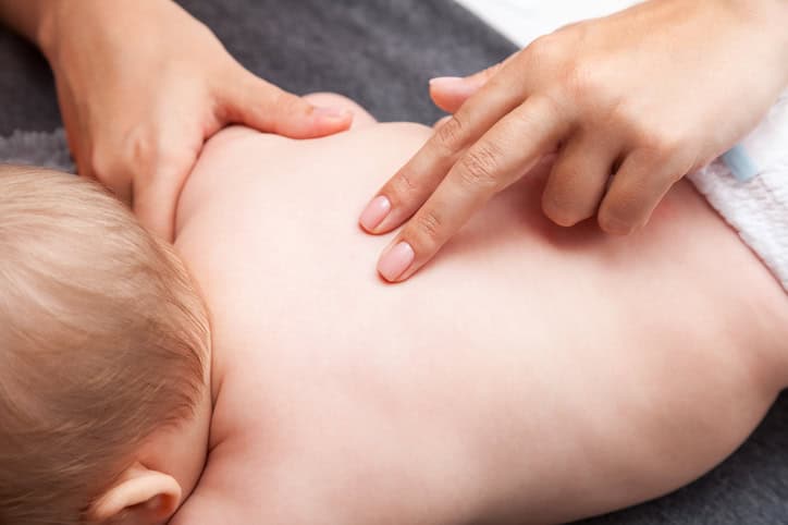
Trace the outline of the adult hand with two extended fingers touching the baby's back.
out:
[[[653,0],[564,27],[471,77],[433,81],[433,99],[455,114],[360,219],[378,234],[413,216],[380,273],[409,278],[556,150],[549,218],[568,227],[598,213],[619,234],[642,227],[676,181],[777,99],[788,84],[786,27],[784,0]]]

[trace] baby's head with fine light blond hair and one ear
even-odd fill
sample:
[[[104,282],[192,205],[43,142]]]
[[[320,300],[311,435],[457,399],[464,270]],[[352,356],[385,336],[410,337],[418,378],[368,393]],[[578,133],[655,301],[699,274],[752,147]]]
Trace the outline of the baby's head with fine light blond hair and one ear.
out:
[[[94,183],[0,167],[0,524],[165,521],[205,460],[209,362],[167,245]]]

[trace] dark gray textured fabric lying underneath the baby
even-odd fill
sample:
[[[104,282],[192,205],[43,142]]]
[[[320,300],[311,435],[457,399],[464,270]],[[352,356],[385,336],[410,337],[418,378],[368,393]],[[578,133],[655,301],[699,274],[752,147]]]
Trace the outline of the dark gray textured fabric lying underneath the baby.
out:
[[[512,45],[450,0],[184,0],[247,68],[296,93],[348,95],[381,120],[440,117],[426,82],[481,69]],[[0,161],[71,168],[51,75],[0,32]],[[2,138],[5,137],[5,138]],[[668,497],[583,525],[788,523],[788,395],[723,465]]]

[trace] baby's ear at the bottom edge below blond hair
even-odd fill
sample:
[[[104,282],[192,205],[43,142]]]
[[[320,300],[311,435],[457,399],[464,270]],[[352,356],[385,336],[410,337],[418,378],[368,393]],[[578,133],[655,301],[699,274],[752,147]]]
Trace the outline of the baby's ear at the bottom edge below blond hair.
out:
[[[91,523],[161,525],[181,503],[181,486],[164,473],[135,463],[90,505]]]

